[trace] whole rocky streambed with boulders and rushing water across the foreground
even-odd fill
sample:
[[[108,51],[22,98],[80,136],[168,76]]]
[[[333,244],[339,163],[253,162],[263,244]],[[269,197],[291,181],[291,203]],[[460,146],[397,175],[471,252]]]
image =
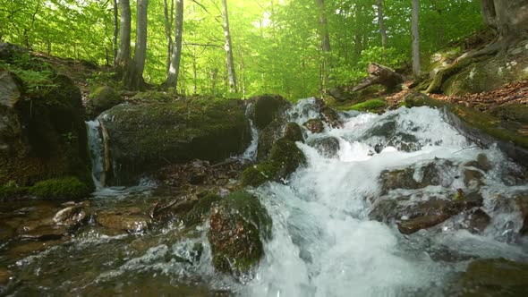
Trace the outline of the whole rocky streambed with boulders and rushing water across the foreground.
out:
[[[1,205],[0,294],[528,291],[526,169],[441,109],[338,114],[273,96],[155,107],[117,106],[90,126],[90,196]],[[193,122],[218,107],[228,124]],[[178,108],[198,114],[171,122]]]

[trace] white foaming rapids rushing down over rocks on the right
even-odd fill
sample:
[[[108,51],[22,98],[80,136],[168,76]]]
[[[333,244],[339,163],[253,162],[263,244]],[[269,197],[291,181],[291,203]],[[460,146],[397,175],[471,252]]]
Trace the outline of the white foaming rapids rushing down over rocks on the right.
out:
[[[297,123],[313,117],[313,99],[290,111]],[[309,116],[309,117],[306,117]],[[526,249],[506,243],[504,233],[520,229],[519,216],[505,215],[493,197],[526,191],[526,184],[508,187],[501,174],[515,168],[497,148],[474,148],[447,124],[438,110],[429,107],[400,108],[384,115],[353,113],[343,129],[329,129],[313,138],[336,137],[340,149],[325,157],[298,143],[308,157],[287,185],[273,182],[256,193],[273,217],[273,239],[254,280],[241,288],[251,296],[407,296],[441,295],[452,272],[463,271],[467,261],[433,259],[442,251],[467,258],[505,257],[526,259]],[[369,131],[384,123],[396,123],[397,132],[416,138],[420,150],[405,152],[394,147],[374,153],[382,139]],[[395,134],[395,133],[393,133]],[[397,138],[397,136],[396,136]],[[393,141],[396,146],[399,143]],[[404,236],[395,226],[369,220],[368,198],[380,194],[379,174],[386,169],[417,166],[446,158],[454,164],[474,160],[485,153],[494,169],[481,187],[486,211],[492,217],[483,236],[456,228],[456,217],[432,231]],[[455,169],[456,171],[456,169]],[[443,186],[429,186],[409,193],[456,191],[464,182],[443,173]],[[419,177],[418,177],[419,178]],[[524,245],[525,247],[525,245]],[[438,257],[436,257],[438,258]],[[463,257],[464,258],[464,257]]]

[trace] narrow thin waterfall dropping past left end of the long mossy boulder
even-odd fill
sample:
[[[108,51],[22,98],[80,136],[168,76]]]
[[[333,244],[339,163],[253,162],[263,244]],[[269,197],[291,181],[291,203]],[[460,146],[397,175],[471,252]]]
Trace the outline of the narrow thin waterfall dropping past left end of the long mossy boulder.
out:
[[[97,190],[102,189],[106,183],[106,154],[105,141],[98,119],[86,122],[91,156],[92,178]]]

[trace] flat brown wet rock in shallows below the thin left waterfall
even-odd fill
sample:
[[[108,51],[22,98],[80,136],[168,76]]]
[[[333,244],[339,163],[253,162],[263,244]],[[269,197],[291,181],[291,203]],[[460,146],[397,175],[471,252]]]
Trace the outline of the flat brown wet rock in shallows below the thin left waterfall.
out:
[[[122,208],[98,214],[97,222],[105,228],[128,233],[143,233],[151,220],[139,208]]]

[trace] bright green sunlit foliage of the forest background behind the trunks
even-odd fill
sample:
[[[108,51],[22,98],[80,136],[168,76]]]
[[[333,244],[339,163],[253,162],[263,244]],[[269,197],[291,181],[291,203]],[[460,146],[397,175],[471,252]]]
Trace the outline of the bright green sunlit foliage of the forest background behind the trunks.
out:
[[[226,66],[223,1],[184,3],[176,86],[182,94],[247,98],[277,93],[286,98],[306,98],[332,85],[357,81],[370,62],[396,69],[411,67],[411,1],[227,0],[234,88]],[[114,41],[114,5],[118,3],[0,0],[0,41],[47,55],[113,65],[118,44]],[[160,85],[167,79],[176,6],[176,0],[149,3],[143,73],[149,84]],[[130,0],[130,7],[133,53],[136,0]],[[382,30],[379,12],[383,13]],[[419,27],[425,60],[427,54],[484,27],[481,2],[422,0]],[[381,32],[387,36],[386,44],[382,44]],[[321,35],[328,35],[328,39]]]

